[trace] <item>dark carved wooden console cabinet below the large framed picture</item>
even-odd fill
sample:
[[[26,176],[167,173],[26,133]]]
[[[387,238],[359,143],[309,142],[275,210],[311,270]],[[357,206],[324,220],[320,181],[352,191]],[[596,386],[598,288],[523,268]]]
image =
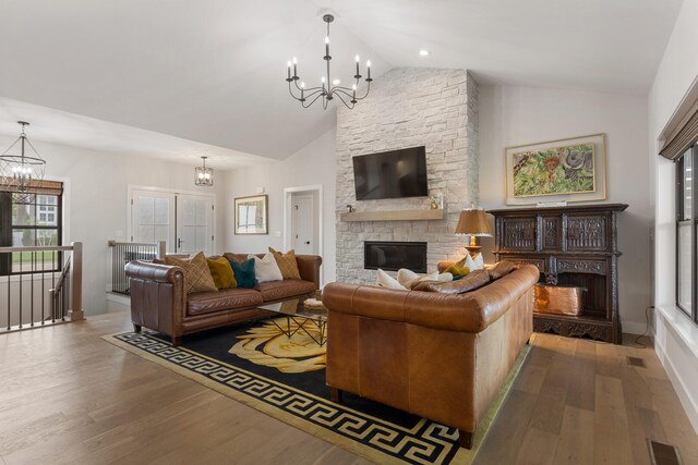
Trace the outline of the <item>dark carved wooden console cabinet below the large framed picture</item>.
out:
[[[533,313],[533,330],[622,343],[617,219],[625,204],[490,210],[497,260],[535,265],[541,281],[586,289],[578,316]]]

